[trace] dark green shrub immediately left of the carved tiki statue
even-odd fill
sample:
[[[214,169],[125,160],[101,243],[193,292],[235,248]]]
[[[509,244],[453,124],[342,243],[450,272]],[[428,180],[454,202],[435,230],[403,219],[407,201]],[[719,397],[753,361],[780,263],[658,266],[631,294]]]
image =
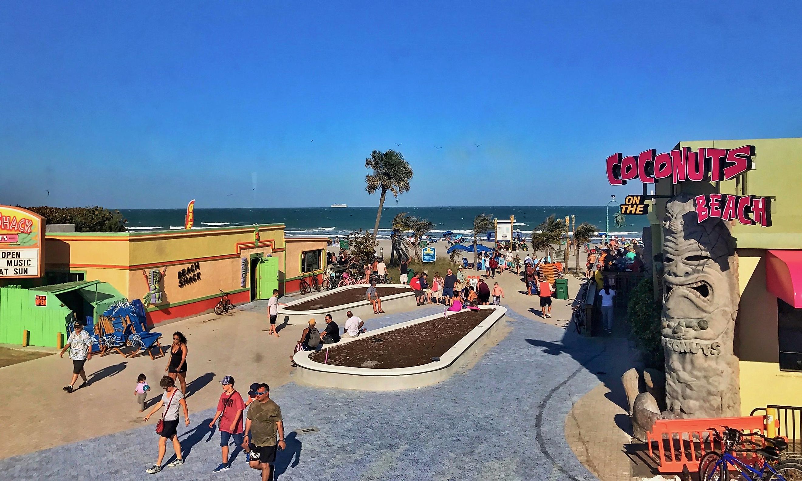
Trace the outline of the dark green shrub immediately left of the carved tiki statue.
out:
[[[643,354],[646,367],[664,369],[664,358],[660,338],[660,313],[662,303],[654,301],[654,281],[646,277],[632,289],[627,306],[631,333]]]

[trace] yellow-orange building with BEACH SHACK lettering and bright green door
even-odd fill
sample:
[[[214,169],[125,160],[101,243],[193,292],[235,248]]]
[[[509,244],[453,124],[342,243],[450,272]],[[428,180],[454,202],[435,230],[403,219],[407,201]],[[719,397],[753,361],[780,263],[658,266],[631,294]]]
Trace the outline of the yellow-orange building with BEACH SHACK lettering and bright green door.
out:
[[[302,272],[322,276],[328,239],[285,238],[284,227],[49,233],[44,276],[4,283],[105,281],[128,299],[150,299],[148,321],[159,324],[211,311],[221,291],[238,305],[266,299],[273,289],[297,291]]]

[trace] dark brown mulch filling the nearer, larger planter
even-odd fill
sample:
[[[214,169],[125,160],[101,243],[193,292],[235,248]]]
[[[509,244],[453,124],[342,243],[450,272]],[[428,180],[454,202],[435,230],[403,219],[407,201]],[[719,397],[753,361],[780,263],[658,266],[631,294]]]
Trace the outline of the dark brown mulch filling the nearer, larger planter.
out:
[[[421,366],[432,362],[431,358],[445,354],[494,312],[495,309],[464,310],[448,317],[436,317],[431,321],[347,342],[342,346],[332,346],[328,349],[328,364],[372,369]],[[378,339],[381,342],[377,342]],[[325,358],[326,350],[310,355],[314,362],[323,362]]]

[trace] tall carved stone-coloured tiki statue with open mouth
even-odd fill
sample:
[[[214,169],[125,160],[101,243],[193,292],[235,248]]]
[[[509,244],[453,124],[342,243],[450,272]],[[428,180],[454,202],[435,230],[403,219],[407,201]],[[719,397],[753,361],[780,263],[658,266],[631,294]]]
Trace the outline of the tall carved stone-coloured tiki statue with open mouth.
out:
[[[699,224],[685,194],[668,202],[662,228],[667,409],[675,418],[739,416],[738,259],[730,228],[715,218]]]

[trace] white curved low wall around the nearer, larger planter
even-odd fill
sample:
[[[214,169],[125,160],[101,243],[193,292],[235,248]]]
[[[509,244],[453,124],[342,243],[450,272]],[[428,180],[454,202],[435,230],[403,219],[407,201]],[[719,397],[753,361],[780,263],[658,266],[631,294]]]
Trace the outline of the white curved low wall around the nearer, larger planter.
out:
[[[498,342],[504,337],[504,313],[507,312],[507,308],[500,305],[483,305],[481,309],[495,309],[496,312],[492,313],[467,333],[464,338],[456,342],[451,349],[440,356],[440,360],[437,362],[429,362],[422,366],[398,369],[331,366],[312,361],[309,356],[314,351],[300,351],[295,354],[294,357],[295,363],[298,364],[295,378],[299,382],[304,382],[313,386],[358,390],[410,389],[420,386],[429,386],[444,381],[460,370],[464,362],[470,361],[472,357],[480,351],[484,343]],[[436,317],[443,317],[443,314],[433,314],[382,329],[368,331],[358,338],[342,338],[342,341],[337,344],[326,345],[324,349],[342,346],[346,342],[354,342],[358,339],[370,338],[371,336],[386,333],[391,330],[430,321]]]

